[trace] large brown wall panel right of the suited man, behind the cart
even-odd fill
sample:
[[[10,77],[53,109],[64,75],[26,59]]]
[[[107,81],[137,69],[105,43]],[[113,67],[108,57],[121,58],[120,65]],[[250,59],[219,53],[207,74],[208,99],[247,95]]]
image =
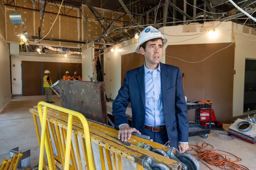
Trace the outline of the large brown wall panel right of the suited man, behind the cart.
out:
[[[230,43],[172,45],[166,55],[189,62],[205,59]],[[222,123],[232,122],[234,45],[212,55],[199,63],[188,63],[166,56],[166,64],[180,67],[184,73],[184,91],[188,101],[211,100],[216,119]],[[195,111],[188,111],[190,121]]]

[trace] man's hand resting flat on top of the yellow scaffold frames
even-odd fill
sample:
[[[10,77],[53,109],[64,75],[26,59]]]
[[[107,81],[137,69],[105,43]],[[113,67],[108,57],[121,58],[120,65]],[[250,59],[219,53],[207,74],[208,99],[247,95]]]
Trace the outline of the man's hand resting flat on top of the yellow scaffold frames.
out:
[[[127,124],[123,124],[120,126],[119,131],[118,131],[118,139],[121,139],[122,141],[126,142],[131,138],[132,132],[136,132],[138,134],[141,134],[140,131],[138,131],[135,128],[131,128]]]

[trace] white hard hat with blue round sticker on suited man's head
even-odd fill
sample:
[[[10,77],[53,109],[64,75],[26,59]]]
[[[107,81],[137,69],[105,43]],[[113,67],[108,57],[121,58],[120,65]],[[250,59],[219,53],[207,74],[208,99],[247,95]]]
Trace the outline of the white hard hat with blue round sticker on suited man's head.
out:
[[[163,46],[168,41],[168,39],[166,37],[164,37],[158,29],[154,28],[153,26],[147,26],[140,33],[138,46],[136,47],[135,52],[136,53],[140,53],[140,45],[143,44],[144,42],[146,42],[146,41],[148,41],[150,39],[154,39],[154,38],[162,38],[162,39],[164,39]]]

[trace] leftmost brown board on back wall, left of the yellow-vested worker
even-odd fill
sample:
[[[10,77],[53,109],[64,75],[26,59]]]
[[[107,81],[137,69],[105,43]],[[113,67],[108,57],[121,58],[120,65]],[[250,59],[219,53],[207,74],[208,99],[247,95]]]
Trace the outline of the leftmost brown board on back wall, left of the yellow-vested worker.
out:
[[[41,95],[41,62],[21,61],[22,64],[22,95]]]

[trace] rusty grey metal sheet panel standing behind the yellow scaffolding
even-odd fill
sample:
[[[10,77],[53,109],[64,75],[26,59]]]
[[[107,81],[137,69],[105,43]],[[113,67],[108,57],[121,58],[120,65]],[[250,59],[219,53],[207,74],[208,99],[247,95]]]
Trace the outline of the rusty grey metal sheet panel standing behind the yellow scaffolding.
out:
[[[104,82],[58,80],[51,88],[60,97],[62,107],[108,124]]]

